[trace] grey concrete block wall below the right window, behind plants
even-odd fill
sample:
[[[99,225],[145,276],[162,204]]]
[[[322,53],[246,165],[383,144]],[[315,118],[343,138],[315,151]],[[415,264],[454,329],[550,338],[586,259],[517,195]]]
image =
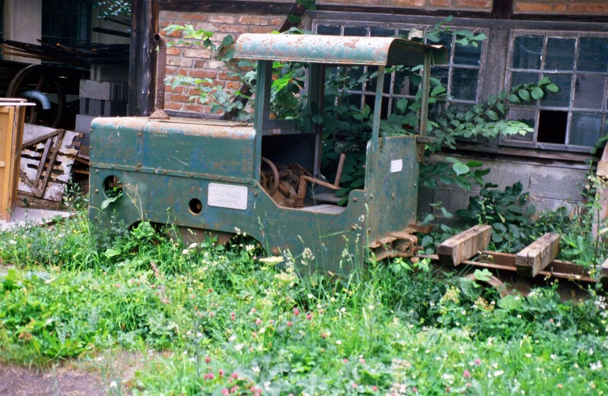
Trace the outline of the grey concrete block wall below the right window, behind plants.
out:
[[[445,155],[434,155],[432,161],[441,161]],[[530,204],[537,211],[556,210],[565,206],[572,208],[579,202],[582,188],[586,182],[587,165],[562,163],[562,162],[539,162],[537,160],[514,159],[513,157],[497,157],[496,159],[479,159],[459,155],[451,155],[462,162],[478,160],[483,162],[483,168],[491,171],[483,178],[486,182],[496,183],[500,188],[511,186],[521,182],[523,191],[530,192]],[[429,203],[443,203],[450,213],[454,214],[458,209],[465,209],[469,204],[469,197],[479,194],[478,186],[472,191],[464,191],[457,185],[439,185],[437,189],[424,186],[420,188],[418,195],[418,218],[433,213],[441,216],[441,211],[434,210]]]

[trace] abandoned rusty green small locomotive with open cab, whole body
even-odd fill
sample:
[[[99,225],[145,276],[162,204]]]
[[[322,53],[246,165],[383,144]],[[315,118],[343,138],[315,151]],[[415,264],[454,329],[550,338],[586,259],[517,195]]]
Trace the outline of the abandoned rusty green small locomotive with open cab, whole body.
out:
[[[192,241],[242,231],[268,254],[289,251],[302,271],[345,273],[373,252],[412,255],[418,158],[426,132],[431,64],[443,47],[401,38],[243,34],[238,58],[257,60],[254,123],[143,117],[92,123],[89,217],[96,227],[120,220],[170,224]],[[365,183],[336,195],[344,156],[323,176],[322,126],[303,130],[271,114],[273,61],[306,64],[309,114],[323,108],[330,66],[378,67]],[[387,66],[423,64],[420,135],[380,136]],[[328,180],[329,179],[329,180]],[[122,189],[117,194],[117,189]],[[302,256],[303,259],[299,259]]]

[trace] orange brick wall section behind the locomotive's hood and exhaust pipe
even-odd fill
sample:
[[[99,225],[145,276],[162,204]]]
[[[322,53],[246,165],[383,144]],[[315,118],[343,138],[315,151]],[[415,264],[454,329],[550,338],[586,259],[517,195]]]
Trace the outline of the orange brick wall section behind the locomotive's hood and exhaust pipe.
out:
[[[285,21],[285,17],[277,15],[237,15],[230,13],[189,13],[163,11],[159,15],[159,31],[170,24],[192,24],[195,29],[209,30],[215,33],[212,41],[219,45],[227,35],[235,38],[241,33],[269,33],[277,30]],[[181,32],[174,32],[168,39],[177,40]],[[229,77],[228,69],[222,61],[213,59],[210,50],[196,46],[193,40],[188,44],[176,44],[167,49],[167,76],[187,75],[195,78],[211,78],[222,86],[226,92],[240,88],[241,83],[235,77]],[[190,95],[196,91],[187,87],[171,89],[165,87],[165,109],[209,113],[210,108],[199,102],[190,101]]]

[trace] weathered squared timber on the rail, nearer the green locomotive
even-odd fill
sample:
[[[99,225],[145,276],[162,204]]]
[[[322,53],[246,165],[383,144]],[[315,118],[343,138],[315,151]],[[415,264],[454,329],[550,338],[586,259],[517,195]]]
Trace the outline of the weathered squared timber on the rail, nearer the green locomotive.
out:
[[[475,256],[490,243],[491,225],[475,225],[457,234],[437,247],[439,261],[454,267]]]

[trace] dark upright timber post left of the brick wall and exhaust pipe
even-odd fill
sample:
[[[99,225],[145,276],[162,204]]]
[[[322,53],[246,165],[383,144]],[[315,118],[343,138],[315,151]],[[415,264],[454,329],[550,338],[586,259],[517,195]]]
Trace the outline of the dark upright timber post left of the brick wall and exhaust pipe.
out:
[[[156,33],[153,0],[133,0],[132,9],[128,114],[150,115],[154,100],[152,35]]]

